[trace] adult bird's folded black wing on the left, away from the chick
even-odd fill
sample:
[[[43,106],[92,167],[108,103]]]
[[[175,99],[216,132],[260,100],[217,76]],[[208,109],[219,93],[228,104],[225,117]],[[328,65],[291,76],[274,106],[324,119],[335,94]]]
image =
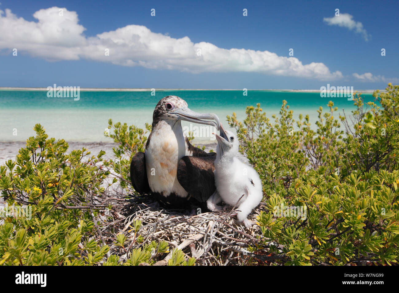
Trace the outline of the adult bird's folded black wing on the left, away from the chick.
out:
[[[150,192],[146,171],[146,159],[142,151],[136,153],[130,163],[130,180],[138,193],[144,194]]]

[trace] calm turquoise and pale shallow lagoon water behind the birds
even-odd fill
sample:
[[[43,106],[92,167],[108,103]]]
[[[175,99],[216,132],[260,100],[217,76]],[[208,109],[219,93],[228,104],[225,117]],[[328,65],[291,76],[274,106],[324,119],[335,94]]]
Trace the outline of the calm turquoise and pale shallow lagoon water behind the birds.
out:
[[[333,100],[339,112],[346,114],[354,109],[347,98],[321,98],[319,93],[249,90],[243,96],[241,90],[158,90],[155,96],[145,92],[81,91],[80,99],[49,98],[47,91],[0,90],[0,142],[25,141],[34,135],[34,124],[40,123],[47,134],[75,142],[111,142],[103,133],[108,119],[143,127],[152,122],[152,111],[158,100],[167,95],[180,96],[190,109],[197,112],[217,114],[223,122],[226,115],[237,113],[245,118],[245,107],[261,103],[267,116],[278,114],[282,100],[287,100],[297,118],[300,113],[309,114],[314,124],[319,106],[327,110]],[[364,94],[365,101],[373,100]],[[338,118],[338,116],[337,116]],[[226,123],[225,123],[226,124]],[[183,122],[188,128],[188,123]],[[199,125],[198,125],[199,126]],[[16,131],[15,131],[16,130]],[[14,135],[17,134],[17,135]],[[209,142],[202,134],[196,142]]]

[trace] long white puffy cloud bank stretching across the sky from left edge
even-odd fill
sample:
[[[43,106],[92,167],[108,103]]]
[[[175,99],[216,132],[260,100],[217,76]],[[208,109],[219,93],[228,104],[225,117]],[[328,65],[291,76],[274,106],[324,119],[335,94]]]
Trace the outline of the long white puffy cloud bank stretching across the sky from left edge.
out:
[[[211,43],[193,43],[189,37],[175,39],[154,33],[145,26],[129,25],[94,37],[83,34],[76,12],[58,7],[34,13],[38,22],[18,18],[11,10],[0,10],[0,49],[17,48],[49,61],[91,59],[123,66],[171,69],[190,73],[257,72],[270,75],[333,80],[324,63],[302,64],[297,58],[269,51],[223,49]],[[109,56],[105,50],[109,49]],[[200,53],[200,54],[199,54]]]

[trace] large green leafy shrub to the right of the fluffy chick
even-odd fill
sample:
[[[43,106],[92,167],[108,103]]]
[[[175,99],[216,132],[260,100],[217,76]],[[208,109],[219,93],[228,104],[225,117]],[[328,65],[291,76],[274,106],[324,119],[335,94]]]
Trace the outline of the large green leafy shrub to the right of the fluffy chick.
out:
[[[397,262],[399,86],[373,96],[380,106],[370,109],[354,96],[353,124],[334,118],[332,101],[328,112],[320,107],[315,131],[308,116],[293,119],[286,101],[274,123],[260,104],[243,122],[227,116],[263,181],[263,238],[253,252],[266,249],[286,265]]]

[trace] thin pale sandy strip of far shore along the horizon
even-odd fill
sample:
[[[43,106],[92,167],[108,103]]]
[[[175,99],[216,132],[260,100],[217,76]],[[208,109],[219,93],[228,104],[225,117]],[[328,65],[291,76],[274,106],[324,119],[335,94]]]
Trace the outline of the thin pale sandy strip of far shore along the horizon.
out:
[[[47,88],[45,87],[0,87],[0,90],[32,90],[32,91],[47,91]],[[87,92],[149,92],[152,90],[152,88],[79,88],[81,91],[87,91]],[[234,89],[234,88],[155,88],[155,90],[160,90],[160,91],[190,91],[190,90],[229,90],[229,91],[242,91],[241,88]],[[306,89],[306,90],[300,90],[300,89],[248,89],[248,90],[254,90],[254,91],[270,91],[270,92],[321,92],[321,90],[316,90],[316,89]],[[373,93],[375,90],[359,90],[356,89],[354,91],[357,92],[362,92],[362,93]],[[380,90],[380,92],[385,92],[384,90]]]

